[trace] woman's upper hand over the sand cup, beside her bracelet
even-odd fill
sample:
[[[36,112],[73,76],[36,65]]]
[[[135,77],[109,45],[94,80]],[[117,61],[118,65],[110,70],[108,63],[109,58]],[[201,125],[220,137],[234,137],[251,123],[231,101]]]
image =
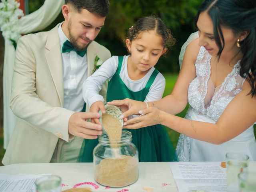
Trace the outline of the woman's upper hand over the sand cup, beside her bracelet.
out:
[[[111,102],[108,102],[108,104],[120,106],[120,109],[122,110],[122,112],[124,112],[120,116],[120,119],[124,119],[130,115],[140,115],[139,110],[147,108],[145,102],[136,101],[128,98],[123,100],[113,100]]]

